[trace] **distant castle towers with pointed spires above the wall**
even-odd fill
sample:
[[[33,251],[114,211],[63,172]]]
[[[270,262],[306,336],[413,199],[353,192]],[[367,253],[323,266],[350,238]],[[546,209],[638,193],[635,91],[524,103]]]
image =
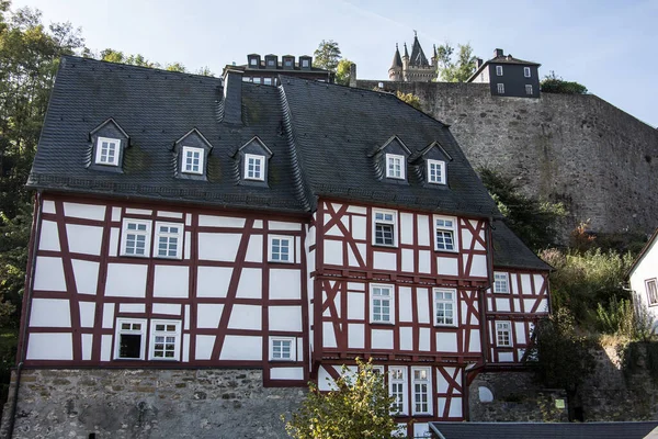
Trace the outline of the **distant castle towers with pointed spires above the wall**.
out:
[[[431,82],[436,79],[436,46],[434,46],[432,58],[428,61],[416,33],[413,34],[411,56],[407,52],[407,43],[405,43],[404,56],[400,56],[396,44],[393,65],[388,69],[388,79],[401,82]]]

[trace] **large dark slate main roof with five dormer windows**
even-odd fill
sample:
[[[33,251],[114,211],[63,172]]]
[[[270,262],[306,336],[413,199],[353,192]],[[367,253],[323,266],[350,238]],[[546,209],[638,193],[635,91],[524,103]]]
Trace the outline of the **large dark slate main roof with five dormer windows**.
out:
[[[220,122],[222,80],[78,57],[60,64],[31,188],[307,213],[316,196],[498,216],[447,126],[395,95],[292,77],[241,82],[242,124]],[[123,173],[84,167],[89,132],[113,117],[131,136]],[[173,143],[196,127],[213,145],[207,181],[177,179]],[[439,142],[449,187],[377,179],[367,153],[397,135],[412,153]],[[272,150],[269,188],[240,184],[235,150],[253,136]],[[88,154],[87,154],[88,156]],[[234,157],[231,157],[234,156]]]

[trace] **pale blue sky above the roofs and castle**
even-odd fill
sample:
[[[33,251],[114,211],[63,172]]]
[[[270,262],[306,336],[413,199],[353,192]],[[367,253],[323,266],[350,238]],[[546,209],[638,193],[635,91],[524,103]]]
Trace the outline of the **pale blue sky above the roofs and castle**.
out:
[[[445,42],[484,59],[502,48],[658,126],[658,0],[12,0],[22,7],[80,26],[93,50],[216,76],[247,54],[313,55],[333,40],[358,78],[388,79],[396,43],[410,48],[417,31],[428,58]]]

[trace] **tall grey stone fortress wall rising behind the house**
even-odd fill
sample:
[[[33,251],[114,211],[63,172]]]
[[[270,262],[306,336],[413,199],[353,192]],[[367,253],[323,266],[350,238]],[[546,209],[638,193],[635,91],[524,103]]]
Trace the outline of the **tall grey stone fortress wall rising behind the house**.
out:
[[[402,91],[451,125],[470,164],[498,168],[526,194],[565,202],[565,230],[650,233],[658,225],[658,130],[593,95],[492,97],[487,83],[359,80]]]

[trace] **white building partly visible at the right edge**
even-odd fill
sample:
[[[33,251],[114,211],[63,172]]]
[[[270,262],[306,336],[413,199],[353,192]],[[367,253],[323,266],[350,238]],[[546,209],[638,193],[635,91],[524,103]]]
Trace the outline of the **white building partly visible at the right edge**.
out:
[[[628,271],[635,309],[647,313],[651,333],[658,330],[658,228]]]

